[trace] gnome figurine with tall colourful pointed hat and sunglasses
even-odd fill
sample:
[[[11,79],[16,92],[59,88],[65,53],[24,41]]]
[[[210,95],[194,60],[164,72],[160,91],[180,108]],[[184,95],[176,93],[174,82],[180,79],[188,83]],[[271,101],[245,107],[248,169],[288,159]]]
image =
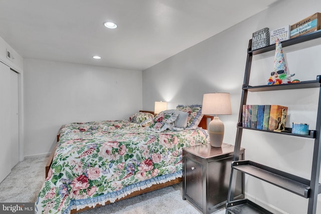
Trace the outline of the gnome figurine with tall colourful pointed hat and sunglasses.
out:
[[[270,78],[267,80],[268,85],[278,85],[291,83],[291,77],[295,74],[287,74],[287,68],[283,56],[282,45],[279,39],[275,43],[274,71],[271,72]]]

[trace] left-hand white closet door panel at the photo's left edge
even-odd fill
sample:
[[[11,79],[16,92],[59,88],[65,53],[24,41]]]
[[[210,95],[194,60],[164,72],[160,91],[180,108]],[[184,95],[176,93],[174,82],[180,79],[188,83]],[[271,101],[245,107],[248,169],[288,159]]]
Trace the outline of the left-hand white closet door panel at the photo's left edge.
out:
[[[10,68],[0,62],[0,182],[11,171]]]

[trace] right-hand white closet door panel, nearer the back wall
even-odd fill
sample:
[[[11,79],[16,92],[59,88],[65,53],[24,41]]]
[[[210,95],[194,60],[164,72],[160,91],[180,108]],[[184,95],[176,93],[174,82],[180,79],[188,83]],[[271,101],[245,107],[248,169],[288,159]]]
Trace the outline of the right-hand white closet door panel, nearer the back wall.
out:
[[[10,71],[11,88],[11,168],[19,162],[18,73]]]

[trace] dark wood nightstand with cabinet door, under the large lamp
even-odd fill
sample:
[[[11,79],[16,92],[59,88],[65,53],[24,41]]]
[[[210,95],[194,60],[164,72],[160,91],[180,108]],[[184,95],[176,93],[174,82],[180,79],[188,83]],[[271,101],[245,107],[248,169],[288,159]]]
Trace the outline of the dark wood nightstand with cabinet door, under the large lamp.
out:
[[[227,201],[234,146],[210,143],[183,148],[183,200],[188,199],[203,213],[214,212]],[[240,150],[244,160],[245,149]],[[244,197],[244,174],[236,176],[235,198]]]

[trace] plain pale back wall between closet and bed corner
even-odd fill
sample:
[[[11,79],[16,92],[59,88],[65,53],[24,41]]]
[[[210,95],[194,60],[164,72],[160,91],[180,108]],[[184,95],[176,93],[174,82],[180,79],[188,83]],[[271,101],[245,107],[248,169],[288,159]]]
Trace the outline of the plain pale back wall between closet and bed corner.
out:
[[[142,108],[142,72],[25,59],[24,156],[45,154],[61,125],[128,119]]]

